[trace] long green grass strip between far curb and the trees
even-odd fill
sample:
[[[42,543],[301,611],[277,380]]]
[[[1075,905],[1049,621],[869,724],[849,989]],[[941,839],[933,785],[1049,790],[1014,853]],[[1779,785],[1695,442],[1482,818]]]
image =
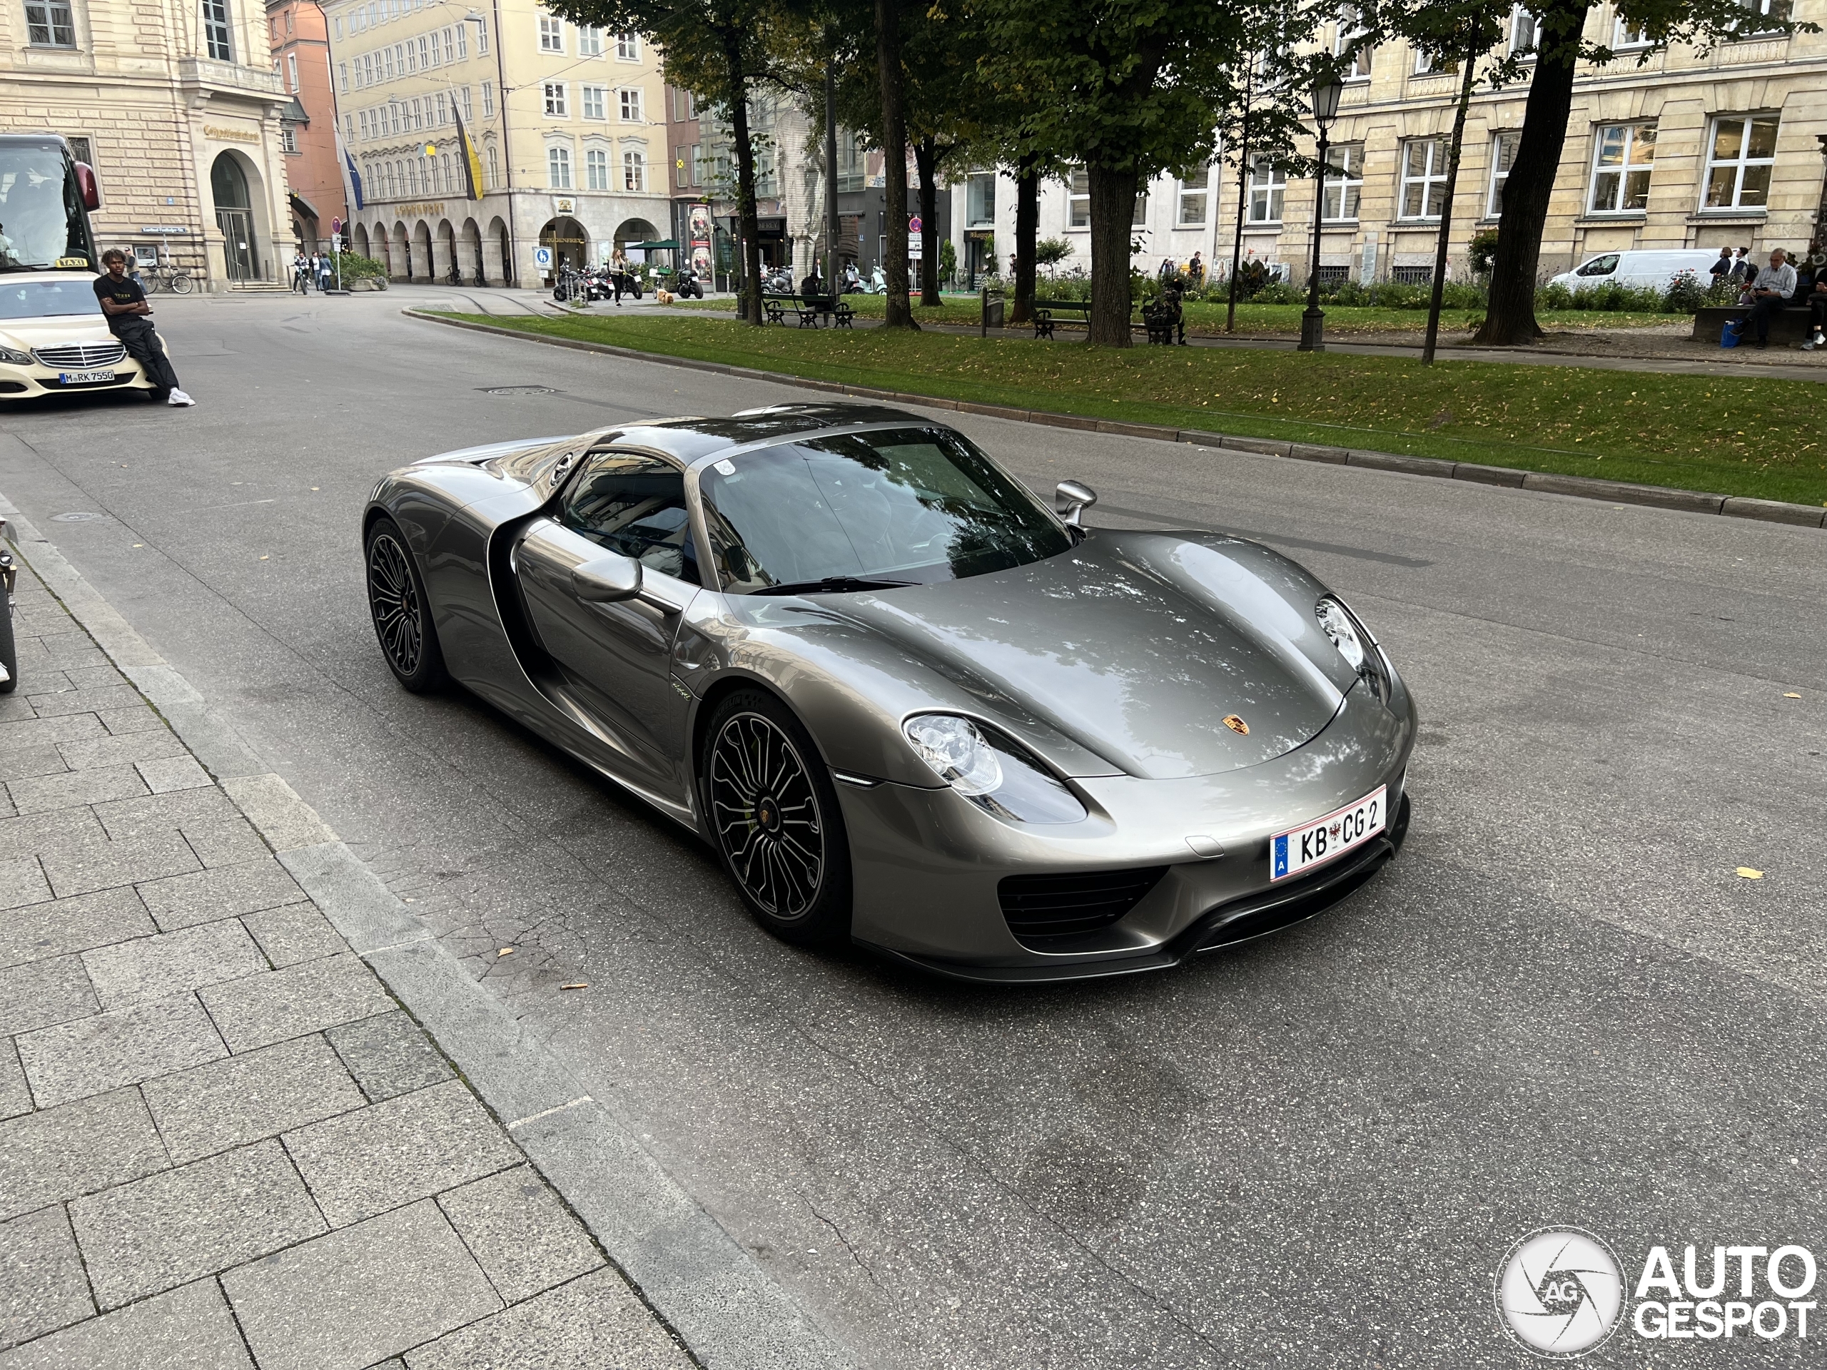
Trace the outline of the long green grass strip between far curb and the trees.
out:
[[[477,323],[912,395],[1827,502],[1827,420],[1794,382],[678,316]],[[1787,415],[1776,427],[1770,415]]]

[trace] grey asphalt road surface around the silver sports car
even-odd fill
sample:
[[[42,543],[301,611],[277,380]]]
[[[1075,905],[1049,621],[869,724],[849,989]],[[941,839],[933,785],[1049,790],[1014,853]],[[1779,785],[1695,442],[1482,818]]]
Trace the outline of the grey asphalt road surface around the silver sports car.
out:
[[[1158,977],[961,988],[773,943],[694,840],[398,690],[365,619],[382,471],[793,387],[406,292],[157,303],[197,407],[9,407],[0,491],[859,1361],[1509,1366],[1493,1277],[1533,1228],[1632,1280],[1652,1244],[1827,1257],[1820,532],[948,415],[1107,522],[1306,561],[1423,714],[1409,848],[1328,915]]]

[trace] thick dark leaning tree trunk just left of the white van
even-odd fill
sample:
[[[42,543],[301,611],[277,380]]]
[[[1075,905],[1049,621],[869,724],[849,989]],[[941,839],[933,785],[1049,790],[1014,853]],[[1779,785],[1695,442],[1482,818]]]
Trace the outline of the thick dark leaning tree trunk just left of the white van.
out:
[[[1542,258],[1542,227],[1555,192],[1560,152],[1573,111],[1573,66],[1588,5],[1580,0],[1542,16],[1542,53],[1535,58],[1529,104],[1522,117],[1516,161],[1504,181],[1504,217],[1491,259],[1491,305],[1473,340],[1516,347],[1542,336],[1535,321],[1535,274]]]

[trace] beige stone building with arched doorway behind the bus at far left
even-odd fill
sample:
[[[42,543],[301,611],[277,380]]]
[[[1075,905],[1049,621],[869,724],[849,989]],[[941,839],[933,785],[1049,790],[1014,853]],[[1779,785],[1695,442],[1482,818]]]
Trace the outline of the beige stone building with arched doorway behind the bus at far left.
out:
[[[100,181],[97,247],[205,289],[278,281],[290,259],[289,102],[254,0],[0,7],[0,132],[68,137]]]

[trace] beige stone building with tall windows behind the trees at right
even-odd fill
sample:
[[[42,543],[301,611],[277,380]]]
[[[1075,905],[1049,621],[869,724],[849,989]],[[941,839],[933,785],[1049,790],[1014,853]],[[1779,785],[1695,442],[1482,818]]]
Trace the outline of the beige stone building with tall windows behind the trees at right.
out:
[[[1542,274],[1600,252],[1648,247],[1803,250],[1820,232],[1827,139],[1827,33],[1759,33],[1781,0],[1752,0],[1745,35],[1710,53],[1650,51],[1610,7],[1586,37],[1619,58],[1584,68],[1542,234]],[[1761,7],[1761,11],[1759,11]],[[1325,40],[1343,47],[1350,15]],[[1827,20],[1827,0],[1796,0],[1798,20]],[[1827,24],[1823,24],[1827,27]],[[1533,46],[1526,9],[1509,44]],[[1639,62],[1648,53],[1648,60]],[[1445,188],[1458,75],[1427,71],[1403,44],[1357,62],[1332,130],[1321,272],[1350,279],[1429,279]],[[1449,276],[1465,276],[1465,245],[1496,225],[1498,188],[1522,130],[1527,84],[1473,97],[1454,195]],[[1220,192],[1220,254],[1230,258],[1237,186]],[[1253,168],[1244,250],[1306,279],[1314,183]]]

